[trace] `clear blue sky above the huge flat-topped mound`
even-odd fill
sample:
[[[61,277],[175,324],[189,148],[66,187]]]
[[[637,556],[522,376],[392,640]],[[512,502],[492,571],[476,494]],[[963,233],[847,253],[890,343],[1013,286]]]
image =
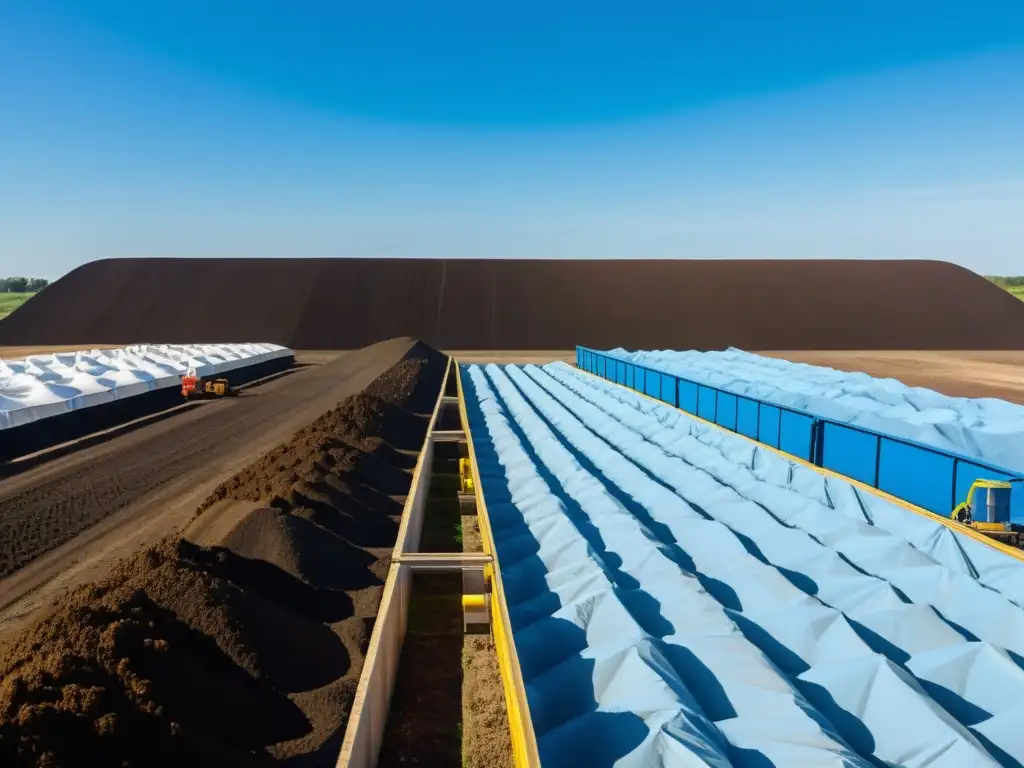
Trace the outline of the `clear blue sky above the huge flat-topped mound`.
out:
[[[2,0],[0,273],[106,256],[1024,273],[1024,2]]]

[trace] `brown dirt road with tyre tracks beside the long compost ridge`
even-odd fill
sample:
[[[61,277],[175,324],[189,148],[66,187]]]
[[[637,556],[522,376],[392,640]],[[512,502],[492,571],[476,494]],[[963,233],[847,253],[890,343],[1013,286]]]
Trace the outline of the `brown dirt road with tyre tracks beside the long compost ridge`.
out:
[[[413,343],[300,358],[315,365],[4,478],[0,634],[65,589],[180,528],[216,485],[361,391]]]

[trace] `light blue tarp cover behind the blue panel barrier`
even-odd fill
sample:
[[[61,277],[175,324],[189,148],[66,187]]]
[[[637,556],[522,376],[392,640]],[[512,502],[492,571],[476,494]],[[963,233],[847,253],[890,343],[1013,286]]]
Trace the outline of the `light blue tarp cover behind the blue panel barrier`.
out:
[[[992,397],[949,397],[895,379],[762,357],[738,349],[613,349],[608,354],[735,394],[1024,471],[1024,406]]]

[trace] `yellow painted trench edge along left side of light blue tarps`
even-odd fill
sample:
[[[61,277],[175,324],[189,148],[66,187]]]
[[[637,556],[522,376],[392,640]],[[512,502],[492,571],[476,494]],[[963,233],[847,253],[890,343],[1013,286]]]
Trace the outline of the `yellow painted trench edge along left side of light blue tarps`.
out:
[[[505,688],[505,707],[509,717],[509,732],[512,737],[512,756],[516,766],[539,768],[540,754],[537,749],[537,734],[534,732],[534,721],[529,715],[529,705],[526,701],[526,688],[522,680],[522,669],[519,667],[519,655],[515,649],[515,639],[512,637],[512,622],[509,618],[508,605],[505,603],[505,590],[502,586],[502,569],[495,552],[494,535],[490,528],[490,517],[487,505],[483,500],[483,489],[480,484],[479,464],[476,461],[476,450],[473,446],[473,435],[469,429],[469,418],[466,412],[466,399],[463,395],[462,369],[459,360],[455,360],[456,375],[459,382],[459,414],[466,430],[466,443],[469,449],[470,468],[473,473],[473,493],[476,495],[476,510],[480,522],[480,535],[483,551],[493,557],[492,600],[497,605],[493,612],[495,648],[498,651],[498,666],[502,673]]]

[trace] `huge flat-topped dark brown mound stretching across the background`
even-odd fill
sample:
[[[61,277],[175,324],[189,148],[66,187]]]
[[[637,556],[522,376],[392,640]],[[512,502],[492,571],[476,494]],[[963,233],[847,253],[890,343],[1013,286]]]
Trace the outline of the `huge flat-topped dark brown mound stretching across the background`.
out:
[[[1021,349],[1024,304],[938,261],[123,259],[0,321],[9,346],[396,336],[440,349]]]

